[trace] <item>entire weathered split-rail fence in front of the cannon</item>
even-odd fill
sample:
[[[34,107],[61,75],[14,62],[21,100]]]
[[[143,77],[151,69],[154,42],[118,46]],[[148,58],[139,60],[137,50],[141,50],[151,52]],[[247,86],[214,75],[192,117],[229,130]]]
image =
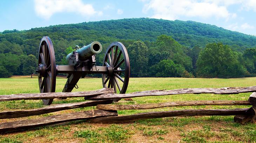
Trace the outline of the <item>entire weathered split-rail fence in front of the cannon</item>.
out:
[[[177,94],[238,94],[253,92],[248,100],[201,100],[201,101],[175,101],[167,103],[138,104],[138,105],[113,105],[113,99],[134,98],[143,96],[164,96]],[[174,90],[150,90],[127,94],[116,94],[111,88],[103,88],[95,91],[84,92],[53,92],[53,93],[27,93],[14,95],[0,95],[0,101],[12,100],[35,100],[35,99],[54,99],[67,97],[85,97],[86,100],[79,103],[66,103],[50,105],[43,108],[21,111],[0,112],[0,119],[19,118],[32,115],[46,114],[56,111],[69,110],[88,106],[96,106],[97,110],[73,112],[67,114],[47,116],[39,119],[13,121],[0,123],[0,133],[18,131],[35,127],[53,125],[56,123],[85,120],[94,123],[124,123],[141,119],[164,118],[172,116],[213,116],[213,115],[235,115],[234,121],[244,124],[256,120],[256,86],[245,88],[184,88]],[[173,106],[201,106],[201,105],[251,105],[250,108],[238,109],[215,109],[215,110],[175,110],[161,112],[146,112],[133,115],[118,116],[117,110],[143,110]]]

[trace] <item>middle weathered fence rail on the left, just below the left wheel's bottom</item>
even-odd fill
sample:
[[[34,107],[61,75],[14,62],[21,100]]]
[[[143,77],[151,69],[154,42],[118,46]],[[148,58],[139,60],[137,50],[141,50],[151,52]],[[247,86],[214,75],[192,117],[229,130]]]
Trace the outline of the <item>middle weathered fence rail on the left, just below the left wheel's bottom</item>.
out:
[[[81,108],[88,106],[96,106],[97,104],[110,104],[113,100],[98,100],[98,101],[84,101],[78,103],[65,103],[50,105],[43,108],[32,109],[32,110],[21,110],[21,111],[5,111],[0,112],[0,119],[19,118],[32,115],[46,114],[50,112],[56,112],[61,110],[68,110],[73,108]]]

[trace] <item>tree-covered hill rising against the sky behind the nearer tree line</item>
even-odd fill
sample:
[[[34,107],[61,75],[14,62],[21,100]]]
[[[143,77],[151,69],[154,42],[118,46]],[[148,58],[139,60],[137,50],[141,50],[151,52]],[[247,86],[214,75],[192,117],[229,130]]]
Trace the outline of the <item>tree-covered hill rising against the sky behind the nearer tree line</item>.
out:
[[[237,50],[256,46],[255,36],[226,30],[215,25],[151,18],[84,22],[32,28],[24,31],[6,30],[1,32],[0,42],[7,40],[19,44],[26,48],[24,49],[25,52],[35,55],[42,36],[49,36],[55,43],[63,40],[74,45],[75,40],[82,40],[87,43],[97,40],[103,44],[118,39],[139,39],[152,42],[162,34],[172,36],[178,43],[188,47],[194,47],[195,45],[204,47],[206,44],[213,42],[221,42],[234,48],[240,47]]]

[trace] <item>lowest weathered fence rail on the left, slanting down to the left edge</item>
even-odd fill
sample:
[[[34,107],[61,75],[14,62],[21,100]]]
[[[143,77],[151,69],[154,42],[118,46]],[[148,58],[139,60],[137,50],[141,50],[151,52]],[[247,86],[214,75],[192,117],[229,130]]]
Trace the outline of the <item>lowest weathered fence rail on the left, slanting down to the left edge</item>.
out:
[[[48,116],[40,119],[6,122],[6,123],[0,124],[0,133],[4,133],[7,131],[16,131],[21,129],[22,130],[29,129],[34,127],[42,127],[46,125],[52,125],[52,124],[68,122],[68,121],[92,119],[92,118],[106,117],[106,116],[117,116],[117,112],[104,111],[104,110],[90,110],[90,111],[82,111],[82,112]]]

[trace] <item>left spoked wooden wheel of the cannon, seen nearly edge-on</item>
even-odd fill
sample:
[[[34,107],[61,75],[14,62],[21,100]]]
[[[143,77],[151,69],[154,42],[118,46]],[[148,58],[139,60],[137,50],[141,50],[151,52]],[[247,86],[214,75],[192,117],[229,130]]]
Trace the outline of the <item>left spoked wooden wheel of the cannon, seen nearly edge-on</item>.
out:
[[[49,37],[41,39],[38,55],[38,82],[39,90],[43,92],[55,92],[56,63],[52,40]],[[44,105],[52,104],[53,99],[42,99]]]

